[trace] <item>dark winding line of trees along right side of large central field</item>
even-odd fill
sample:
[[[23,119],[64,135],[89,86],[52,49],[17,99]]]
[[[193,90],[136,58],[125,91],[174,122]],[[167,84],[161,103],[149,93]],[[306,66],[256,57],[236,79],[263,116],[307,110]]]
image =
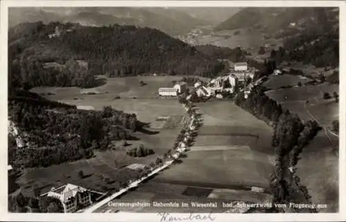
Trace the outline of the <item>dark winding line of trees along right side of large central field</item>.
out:
[[[289,200],[302,201],[298,195],[300,188],[293,183],[293,169],[298,163],[303,147],[321,128],[316,121],[307,121],[303,124],[298,115],[288,110],[284,111],[280,104],[265,95],[265,91],[264,87],[255,86],[247,100],[244,100],[244,95],[239,93],[235,104],[264,120],[274,129],[272,145],[277,156],[271,182],[274,201],[277,203],[288,203]]]

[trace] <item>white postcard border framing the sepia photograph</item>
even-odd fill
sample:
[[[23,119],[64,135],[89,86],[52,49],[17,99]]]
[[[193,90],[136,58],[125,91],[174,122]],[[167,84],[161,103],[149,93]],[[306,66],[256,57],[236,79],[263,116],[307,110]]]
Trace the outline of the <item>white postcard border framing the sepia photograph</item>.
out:
[[[340,7],[340,152],[339,152],[339,212],[329,214],[213,214],[215,221],[346,221],[346,77],[345,68],[341,64],[345,62],[345,26],[346,12],[343,1],[1,1],[1,107],[0,109],[0,140],[3,141],[3,149],[0,151],[0,176],[1,181],[7,181],[7,30],[8,7],[102,7],[102,6],[127,6],[127,7]],[[117,213],[117,214],[10,214],[7,210],[6,182],[0,183],[0,220],[1,221],[160,221],[157,214],[146,213]],[[343,188],[343,189],[342,189]],[[182,214],[174,214],[179,216]]]

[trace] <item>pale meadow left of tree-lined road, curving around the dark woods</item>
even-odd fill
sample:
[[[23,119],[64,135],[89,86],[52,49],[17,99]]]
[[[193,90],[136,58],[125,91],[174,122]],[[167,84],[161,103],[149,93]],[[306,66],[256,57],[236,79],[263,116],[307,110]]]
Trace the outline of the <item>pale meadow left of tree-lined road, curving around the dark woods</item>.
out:
[[[95,190],[107,190],[112,187],[112,184],[105,183],[102,176],[113,179],[120,169],[129,170],[122,167],[134,163],[149,165],[154,162],[156,156],[162,155],[167,149],[172,148],[185,114],[185,110],[176,99],[156,98],[156,92],[158,87],[172,86],[172,81],[179,79],[181,77],[110,78],[104,86],[89,89],[89,91],[97,91],[98,94],[95,95],[82,95],[81,90],[74,87],[33,89],[37,93],[44,93],[44,96],[51,100],[94,109],[102,109],[104,106],[111,105],[128,113],[136,113],[138,120],[149,123],[149,127],[146,128],[147,131],[134,133],[138,140],[128,140],[127,147],[122,146],[122,141],[114,141],[114,149],[95,151],[95,157],[88,160],[28,169],[17,179],[18,185],[26,187],[24,192],[28,194],[32,193],[35,185],[46,190],[64,183],[74,183]],[[140,80],[147,85],[139,86]],[[48,92],[54,95],[47,95]],[[116,95],[120,95],[122,98],[114,100]],[[133,95],[137,99],[133,99]],[[75,97],[80,100],[74,100]],[[160,121],[162,117],[165,117],[166,120]],[[158,126],[157,122],[161,122],[161,126]],[[144,158],[132,158],[126,154],[127,149],[138,147],[140,144],[153,149],[155,154]],[[79,178],[80,170],[88,176]],[[57,174],[57,172],[60,173]]]

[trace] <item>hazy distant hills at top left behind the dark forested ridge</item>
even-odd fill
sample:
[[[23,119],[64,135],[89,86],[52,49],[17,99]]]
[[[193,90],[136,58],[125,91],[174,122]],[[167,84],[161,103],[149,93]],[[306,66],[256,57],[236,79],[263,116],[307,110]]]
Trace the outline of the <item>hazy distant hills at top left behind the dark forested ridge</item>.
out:
[[[23,22],[51,21],[79,23],[82,26],[113,24],[149,27],[169,35],[187,33],[203,20],[173,8],[11,8],[10,26]]]

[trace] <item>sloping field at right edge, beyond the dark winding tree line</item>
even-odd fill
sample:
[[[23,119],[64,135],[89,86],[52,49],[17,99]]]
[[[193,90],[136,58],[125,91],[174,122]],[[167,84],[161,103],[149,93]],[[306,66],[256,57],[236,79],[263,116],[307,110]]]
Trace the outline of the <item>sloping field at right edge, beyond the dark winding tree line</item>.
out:
[[[302,151],[298,162],[298,176],[306,185],[313,203],[325,203],[322,212],[338,211],[338,136],[331,132],[331,122],[338,120],[338,103],[333,98],[324,100],[323,93],[338,93],[336,84],[302,86],[268,91],[266,94],[282,107],[304,120],[316,120],[323,129]],[[286,100],[284,95],[287,95]],[[309,101],[308,103],[306,101]]]

